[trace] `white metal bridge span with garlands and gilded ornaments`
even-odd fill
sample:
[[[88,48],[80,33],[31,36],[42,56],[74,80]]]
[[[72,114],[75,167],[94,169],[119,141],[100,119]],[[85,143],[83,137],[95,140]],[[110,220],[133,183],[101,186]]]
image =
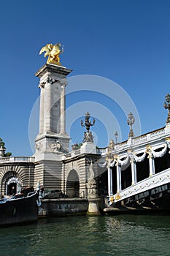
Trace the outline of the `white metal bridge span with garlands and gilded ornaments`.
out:
[[[107,167],[109,206],[155,205],[170,196],[169,126],[98,148]]]

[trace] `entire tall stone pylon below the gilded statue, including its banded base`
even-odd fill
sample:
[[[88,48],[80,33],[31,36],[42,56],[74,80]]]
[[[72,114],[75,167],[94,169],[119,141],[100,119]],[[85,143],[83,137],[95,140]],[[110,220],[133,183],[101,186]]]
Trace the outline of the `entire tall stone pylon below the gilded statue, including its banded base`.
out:
[[[35,183],[45,189],[61,188],[61,158],[69,152],[69,135],[66,133],[66,76],[71,69],[45,64],[36,72],[39,78],[39,134],[35,140]]]

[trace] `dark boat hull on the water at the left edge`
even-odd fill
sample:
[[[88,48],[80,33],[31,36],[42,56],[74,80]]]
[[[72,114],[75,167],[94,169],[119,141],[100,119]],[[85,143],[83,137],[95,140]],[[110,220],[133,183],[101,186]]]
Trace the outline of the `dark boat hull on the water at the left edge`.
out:
[[[0,203],[0,226],[36,222],[38,219],[37,192],[28,197]]]

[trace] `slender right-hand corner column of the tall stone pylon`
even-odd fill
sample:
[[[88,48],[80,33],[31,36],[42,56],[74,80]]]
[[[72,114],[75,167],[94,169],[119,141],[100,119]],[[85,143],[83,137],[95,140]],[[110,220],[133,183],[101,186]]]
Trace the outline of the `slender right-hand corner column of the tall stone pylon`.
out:
[[[61,80],[61,130],[60,133],[66,133],[66,79]]]

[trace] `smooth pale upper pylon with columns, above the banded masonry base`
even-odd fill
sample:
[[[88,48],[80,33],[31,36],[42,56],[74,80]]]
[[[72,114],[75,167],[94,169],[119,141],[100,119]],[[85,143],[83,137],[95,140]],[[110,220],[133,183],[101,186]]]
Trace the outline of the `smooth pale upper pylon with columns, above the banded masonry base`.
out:
[[[61,160],[61,153],[69,152],[66,134],[66,75],[71,69],[45,64],[36,72],[40,79],[39,135],[36,137],[35,161]]]

